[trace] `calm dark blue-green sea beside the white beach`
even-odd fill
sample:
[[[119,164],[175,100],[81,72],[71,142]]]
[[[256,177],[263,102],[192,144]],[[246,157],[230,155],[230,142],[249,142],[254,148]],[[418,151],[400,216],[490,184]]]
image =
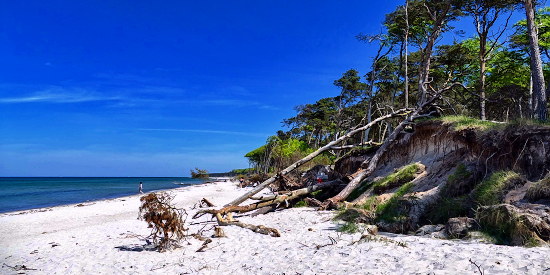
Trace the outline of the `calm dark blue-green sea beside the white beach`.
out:
[[[203,183],[192,178],[0,178],[0,213],[123,197]]]

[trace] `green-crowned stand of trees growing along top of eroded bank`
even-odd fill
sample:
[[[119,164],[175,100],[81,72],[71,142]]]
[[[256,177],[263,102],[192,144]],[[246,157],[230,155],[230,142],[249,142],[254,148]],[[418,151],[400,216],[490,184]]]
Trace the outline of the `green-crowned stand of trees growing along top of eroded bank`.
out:
[[[512,13],[525,11],[524,2],[405,1],[386,15],[381,33],[357,35],[359,41],[378,44],[371,63],[365,66],[368,71],[343,72],[333,82],[333,96],[297,106],[296,115],[283,120],[287,130],[246,157],[262,172],[276,171],[350,129],[397,108],[419,105],[429,93],[452,83],[460,85],[452,85],[437,102],[439,114],[497,121],[532,118],[534,108],[541,106],[535,100],[542,99],[535,98],[531,89],[527,21],[509,22]],[[441,38],[451,34],[453,22],[459,20],[471,20],[473,31],[462,33],[462,40],[455,36],[452,43],[441,43],[449,41]],[[550,75],[550,8],[539,9],[535,21],[544,72]],[[512,23],[514,28],[508,28]],[[545,102],[544,109],[548,107]],[[355,134],[341,146],[348,149],[331,150],[330,157],[383,142],[397,123],[390,119]]]

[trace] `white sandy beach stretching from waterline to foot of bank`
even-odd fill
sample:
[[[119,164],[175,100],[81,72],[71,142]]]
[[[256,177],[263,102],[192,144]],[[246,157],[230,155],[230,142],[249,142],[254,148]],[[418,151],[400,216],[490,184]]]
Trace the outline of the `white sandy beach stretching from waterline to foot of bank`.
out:
[[[187,223],[201,198],[217,206],[247,189],[219,182],[173,190]],[[295,208],[239,220],[279,229],[275,238],[240,227],[223,227],[226,238],[159,253],[140,236],[139,196],[0,214],[1,274],[550,274],[550,248],[497,246],[430,237],[384,234],[402,242],[357,241],[361,234],[336,231],[332,212]],[[205,224],[190,226],[190,233]],[[214,222],[207,224],[207,227]],[[331,241],[331,238],[334,241]],[[332,243],[332,244],[331,244]],[[331,245],[327,245],[331,244]],[[326,245],[326,246],[324,246]],[[25,266],[27,270],[21,270]],[[16,269],[20,269],[17,271]]]

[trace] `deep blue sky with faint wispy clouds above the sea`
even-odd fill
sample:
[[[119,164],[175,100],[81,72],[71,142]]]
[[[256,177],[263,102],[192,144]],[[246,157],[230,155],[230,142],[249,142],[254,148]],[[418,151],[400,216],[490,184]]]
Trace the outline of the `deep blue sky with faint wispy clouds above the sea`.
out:
[[[0,176],[248,167],[403,1],[5,1]]]

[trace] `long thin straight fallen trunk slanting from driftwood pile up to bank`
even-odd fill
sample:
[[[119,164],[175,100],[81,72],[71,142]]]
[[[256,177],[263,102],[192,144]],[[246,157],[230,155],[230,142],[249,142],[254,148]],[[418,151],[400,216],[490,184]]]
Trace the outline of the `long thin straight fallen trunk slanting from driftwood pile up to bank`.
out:
[[[264,188],[266,188],[267,186],[269,186],[270,184],[274,183],[275,180],[277,180],[278,176],[279,175],[286,175],[292,171],[294,171],[294,169],[300,167],[301,165],[303,165],[304,163],[307,163],[308,161],[312,160],[313,158],[315,158],[316,156],[318,156],[319,154],[327,151],[327,150],[330,150],[332,147],[340,144],[342,141],[350,138],[351,136],[361,132],[361,131],[365,131],[366,129],[369,129],[371,128],[373,125],[375,125],[376,123],[380,122],[380,121],[383,121],[385,119],[388,119],[388,118],[392,118],[392,117],[397,117],[397,116],[403,116],[404,114],[406,114],[407,112],[409,111],[409,109],[399,109],[391,114],[388,114],[388,115],[385,115],[385,116],[381,116],[373,121],[371,121],[370,123],[362,126],[362,127],[358,127],[358,128],[355,128],[351,131],[349,131],[347,134],[339,137],[338,139],[334,140],[334,141],[331,141],[329,142],[327,145],[317,149],[315,152],[307,155],[305,158],[303,159],[300,159],[298,161],[296,161],[295,163],[293,163],[292,165],[288,166],[287,168],[285,168],[284,170],[282,170],[281,172],[279,172],[278,174],[276,174],[275,176],[272,176],[270,177],[269,179],[265,180],[264,182],[262,182],[261,184],[259,184],[256,188],[248,191],[246,194],[240,196],[239,198],[235,199],[234,201],[228,203],[226,206],[228,205],[239,205],[240,203],[242,203],[243,201],[247,200],[248,198],[256,195],[258,192],[262,191]]]

